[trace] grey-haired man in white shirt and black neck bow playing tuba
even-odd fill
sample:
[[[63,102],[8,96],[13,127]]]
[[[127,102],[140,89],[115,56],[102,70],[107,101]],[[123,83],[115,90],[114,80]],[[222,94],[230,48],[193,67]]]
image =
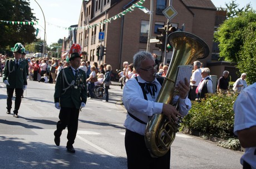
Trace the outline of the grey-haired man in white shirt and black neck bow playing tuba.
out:
[[[144,135],[149,117],[163,113],[171,121],[178,116],[185,116],[191,109],[188,99],[189,81],[179,82],[179,112],[170,104],[157,103],[161,84],[155,78],[155,59],[151,53],[139,52],[134,55],[134,68],[139,76],[126,82],[122,101],[128,112],[125,124],[125,148],[128,168],[170,168],[170,149],[162,157],[151,157],[147,150]]]

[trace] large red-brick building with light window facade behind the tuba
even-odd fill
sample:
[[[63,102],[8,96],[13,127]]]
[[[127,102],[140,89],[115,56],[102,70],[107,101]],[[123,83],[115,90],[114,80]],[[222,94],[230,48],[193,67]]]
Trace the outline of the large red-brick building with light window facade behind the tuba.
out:
[[[149,32],[150,15],[142,12],[139,8],[127,12],[124,15],[112,19],[110,22],[103,22],[106,19],[115,17],[117,14],[129,9],[132,4],[142,2],[141,6],[150,9],[150,1],[146,0],[89,0],[83,1],[80,12],[80,19],[77,27],[77,42],[82,47],[83,58],[90,62],[112,65],[112,69],[122,68],[122,63],[132,63],[135,53],[146,50],[147,35]],[[155,38],[156,29],[164,27],[167,22],[163,10],[169,6],[166,0],[154,0],[151,38]],[[209,49],[213,48],[213,33],[215,28],[216,7],[210,0],[176,0],[172,6],[178,14],[171,19],[171,24],[176,28],[185,25],[185,32],[193,33],[202,38]],[[104,40],[99,40],[99,33],[104,32]],[[96,55],[97,46],[106,47],[106,55],[99,60]],[[150,52],[159,55],[160,62],[163,62],[164,54],[150,44]],[[171,52],[167,60],[171,59]],[[211,54],[204,60],[211,61]]]

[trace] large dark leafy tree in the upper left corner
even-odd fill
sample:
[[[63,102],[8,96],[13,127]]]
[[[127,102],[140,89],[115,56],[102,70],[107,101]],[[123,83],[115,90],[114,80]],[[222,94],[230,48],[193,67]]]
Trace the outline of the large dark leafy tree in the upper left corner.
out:
[[[3,21],[36,21],[28,0],[1,0],[0,16]],[[33,25],[0,22],[0,49],[11,48],[17,42],[34,42],[35,31]]]

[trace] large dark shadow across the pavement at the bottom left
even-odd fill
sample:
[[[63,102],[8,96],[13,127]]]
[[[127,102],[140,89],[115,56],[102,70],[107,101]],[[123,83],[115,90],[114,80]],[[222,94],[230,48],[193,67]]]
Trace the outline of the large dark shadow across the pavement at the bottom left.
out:
[[[64,146],[42,142],[24,143],[17,137],[0,136],[2,169],[9,168],[126,168],[126,158],[101,155],[90,150],[76,149],[68,153]]]

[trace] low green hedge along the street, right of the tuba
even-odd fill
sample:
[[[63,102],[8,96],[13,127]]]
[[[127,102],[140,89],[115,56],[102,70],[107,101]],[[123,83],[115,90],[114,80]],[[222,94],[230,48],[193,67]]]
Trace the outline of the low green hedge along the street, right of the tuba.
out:
[[[189,129],[203,135],[221,139],[233,138],[233,104],[238,94],[210,94],[201,102],[192,101],[192,108],[181,124],[181,130]]]

